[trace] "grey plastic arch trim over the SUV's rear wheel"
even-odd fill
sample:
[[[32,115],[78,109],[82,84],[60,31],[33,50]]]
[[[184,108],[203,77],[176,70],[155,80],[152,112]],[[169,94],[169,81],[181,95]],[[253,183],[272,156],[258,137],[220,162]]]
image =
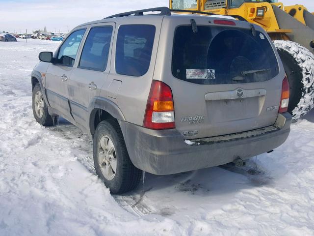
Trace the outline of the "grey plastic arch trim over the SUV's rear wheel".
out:
[[[91,134],[95,133],[95,116],[97,115],[98,109],[102,109],[109,113],[113,118],[118,120],[126,121],[120,108],[112,101],[104,97],[94,97],[88,107],[89,111],[89,130]]]

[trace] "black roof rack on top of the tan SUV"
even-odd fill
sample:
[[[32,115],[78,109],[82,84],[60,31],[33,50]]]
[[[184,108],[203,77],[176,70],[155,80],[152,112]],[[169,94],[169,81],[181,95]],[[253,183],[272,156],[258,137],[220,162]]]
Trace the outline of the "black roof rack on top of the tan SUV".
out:
[[[205,11],[193,11],[193,10],[181,10],[181,9],[169,9],[166,6],[162,6],[162,7],[156,7],[156,8],[148,8],[148,9],[143,9],[143,10],[137,10],[137,11],[129,11],[129,12],[125,12],[125,13],[119,13],[116,15],[112,15],[112,16],[108,16],[104,19],[110,19],[110,18],[116,18],[116,17],[124,17],[124,16],[143,16],[144,12],[155,12],[155,11],[159,11],[159,14],[154,14],[154,15],[159,15],[159,16],[171,16],[171,12],[188,12],[188,13],[192,13],[192,14],[204,14],[204,15],[217,15],[215,13],[211,13],[211,12],[205,12]],[[227,16],[227,15],[221,15],[221,16]],[[240,21],[247,21],[245,20],[243,17],[238,16],[238,15],[232,15],[230,17],[234,17],[237,18]]]

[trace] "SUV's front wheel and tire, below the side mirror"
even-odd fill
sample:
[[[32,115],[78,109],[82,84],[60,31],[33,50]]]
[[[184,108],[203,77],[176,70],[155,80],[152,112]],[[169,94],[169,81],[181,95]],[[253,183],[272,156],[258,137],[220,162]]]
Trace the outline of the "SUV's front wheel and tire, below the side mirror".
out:
[[[38,123],[44,126],[52,126],[56,118],[52,118],[48,113],[48,107],[43,97],[39,83],[33,89],[32,108],[34,118]]]

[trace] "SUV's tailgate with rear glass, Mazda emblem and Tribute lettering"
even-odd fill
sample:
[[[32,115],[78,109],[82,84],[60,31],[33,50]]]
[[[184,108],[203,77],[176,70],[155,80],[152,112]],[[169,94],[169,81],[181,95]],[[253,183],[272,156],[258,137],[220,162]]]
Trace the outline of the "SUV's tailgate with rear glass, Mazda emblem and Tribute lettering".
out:
[[[172,28],[171,79],[161,79],[173,92],[176,129],[193,139],[274,124],[284,75],[268,36],[208,22],[197,32]]]

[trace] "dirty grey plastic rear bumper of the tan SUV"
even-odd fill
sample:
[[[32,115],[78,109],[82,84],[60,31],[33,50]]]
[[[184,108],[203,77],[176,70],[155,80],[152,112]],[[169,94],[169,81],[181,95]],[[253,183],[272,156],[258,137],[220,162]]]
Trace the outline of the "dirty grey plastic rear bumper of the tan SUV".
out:
[[[119,123],[132,163],[155,175],[169,175],[219,166],[237,158],[245,160],[277,148],[288,138],[291,119],[288,113],[279,114],[273,126],[191,140],[189,144],[175,129],[150,130],[124,121]]]

